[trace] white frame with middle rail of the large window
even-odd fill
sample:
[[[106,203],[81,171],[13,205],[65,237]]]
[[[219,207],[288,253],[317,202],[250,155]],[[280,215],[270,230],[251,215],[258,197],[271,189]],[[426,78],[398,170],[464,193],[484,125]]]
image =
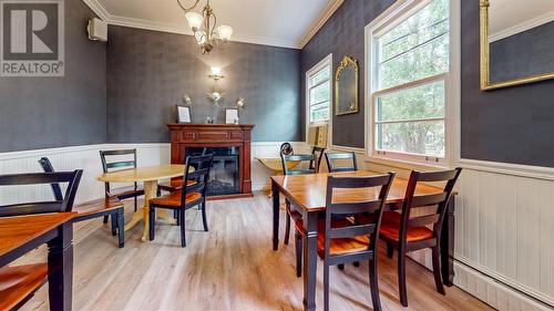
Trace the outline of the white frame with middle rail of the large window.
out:
[[[454,153],[456,153],[456,126],[454,115],[459,112],[454,106],[459,103],[455,99],[456,93],[459,93],[459,86],[456,87],[455,72],[459,71],[456,62],[459,62],[459,55],[454,54],[459,45],[459,37],[455,35],[455,31],[459,29],[456,25],[458,19],[454,13],[459,10],[458,0],[447,0],[449,1],[449,71],[445,73],[439,73],[432,76],[428,76],[413,82],[408,82],[404,84],[396,85],[384,90],[378,90],[379,75],[378,75],[378,38],[383,33],[387,33],[398,24],[406,21],[408,18],[419,12],[425,6],[428,6],[432,0],[399,0],[387,9],[381,15],[375,19],[371,23],[366,27],[366,159],[369,162],[377,162],[381,164],[396,164],[404,163],[408,165],[417,166],[431,166],[431,167],[447,167],[451,166],[454,160]],[[425,85],[437,81],[444,81],[444,117],[440,120],[444,121],[444,157],[410,154],[410,153],[399,153],[392,151],[379,151],[377,149],[376,142],[376,100],[379,96],[398,92],[401,90],[409,90],[411,87]],[[454,84],[454,86],[452,86]]]

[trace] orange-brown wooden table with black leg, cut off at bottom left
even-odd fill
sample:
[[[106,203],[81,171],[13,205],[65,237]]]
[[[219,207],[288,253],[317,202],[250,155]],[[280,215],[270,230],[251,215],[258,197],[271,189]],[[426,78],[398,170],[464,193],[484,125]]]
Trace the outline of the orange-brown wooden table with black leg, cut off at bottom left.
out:
[[[71,310],[75,212],[0,218],[0,268],[48,243],[50,310]]]

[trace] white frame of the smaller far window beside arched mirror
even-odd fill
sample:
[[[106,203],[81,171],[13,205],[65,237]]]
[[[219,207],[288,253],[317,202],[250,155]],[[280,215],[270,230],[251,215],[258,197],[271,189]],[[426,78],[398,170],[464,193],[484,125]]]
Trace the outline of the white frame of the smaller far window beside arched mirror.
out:
[[[310,77],[314,75],[318,74],[321,70],[329,68],[329,120],[322,121],[322,122],[311,122],[310,121],[310,91],[314,87],[322,85],[325,82],[318,83],[317,85],[310,87]],[[306,137],[308,135],[308,128],[314,127],[314,126],[321,126],[321,125],[327,125],[328,126],[328,133],[330,133],[331,124],[332,124],[332,103],[334,103],[334,69],[332,69],[332,53],[324,58],[319,63],[317,63],[315,66],[309,69],[306,72]]]

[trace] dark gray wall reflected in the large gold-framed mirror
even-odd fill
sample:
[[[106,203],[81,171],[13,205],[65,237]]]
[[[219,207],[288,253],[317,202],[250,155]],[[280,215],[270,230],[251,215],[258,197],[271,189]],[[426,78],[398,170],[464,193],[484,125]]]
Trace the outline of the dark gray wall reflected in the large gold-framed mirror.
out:
[[[491,43],[491,81],[554,72],[554,22]]]

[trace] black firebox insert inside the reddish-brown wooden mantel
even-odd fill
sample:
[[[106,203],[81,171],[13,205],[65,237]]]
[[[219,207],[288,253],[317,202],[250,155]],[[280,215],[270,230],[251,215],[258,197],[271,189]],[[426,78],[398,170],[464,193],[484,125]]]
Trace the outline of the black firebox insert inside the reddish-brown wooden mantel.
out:
[[[208,196],[237,195],[240,193],[238,147],[186,148],[186,156],[214,155],[209,169],[206,194]]]

